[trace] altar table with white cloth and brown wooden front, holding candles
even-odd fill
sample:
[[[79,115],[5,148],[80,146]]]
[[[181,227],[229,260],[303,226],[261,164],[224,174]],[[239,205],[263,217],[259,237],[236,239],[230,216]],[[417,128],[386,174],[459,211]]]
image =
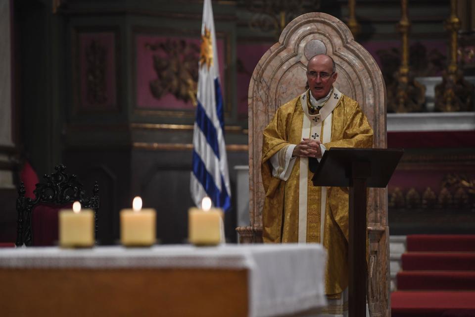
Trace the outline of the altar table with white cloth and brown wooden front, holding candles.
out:
[[[319,244],[0,250],[4,316],[306,316],[326,304]]]

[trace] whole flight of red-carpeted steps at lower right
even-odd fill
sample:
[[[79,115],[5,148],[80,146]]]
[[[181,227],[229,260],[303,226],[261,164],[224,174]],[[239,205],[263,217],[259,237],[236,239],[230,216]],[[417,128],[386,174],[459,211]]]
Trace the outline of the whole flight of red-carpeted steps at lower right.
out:
[[[475,235],[409,235],[393,317],[475,317]]]

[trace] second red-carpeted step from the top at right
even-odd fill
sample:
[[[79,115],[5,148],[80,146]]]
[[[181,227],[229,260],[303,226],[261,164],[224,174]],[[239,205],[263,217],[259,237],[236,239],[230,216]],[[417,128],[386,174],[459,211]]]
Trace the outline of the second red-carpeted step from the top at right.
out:
[[[402,255],[402,269],[407,270],[475,270],[475,253],[409,252]]]

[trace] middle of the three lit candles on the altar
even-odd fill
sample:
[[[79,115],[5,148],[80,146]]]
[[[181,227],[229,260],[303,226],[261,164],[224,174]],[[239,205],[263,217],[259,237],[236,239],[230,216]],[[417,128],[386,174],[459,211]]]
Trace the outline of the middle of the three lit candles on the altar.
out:
[[[120,211],[120,241],[128,247],[146,247],[155,243],[154,209],[142,209],[142,198],[136,197],[132,209]]]

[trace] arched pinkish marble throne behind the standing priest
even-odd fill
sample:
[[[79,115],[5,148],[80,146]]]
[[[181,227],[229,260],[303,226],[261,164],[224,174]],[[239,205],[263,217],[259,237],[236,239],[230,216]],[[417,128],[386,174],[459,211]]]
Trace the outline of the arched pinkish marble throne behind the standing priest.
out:
[[[249,84],[249,217],[238,227],[241,243],[262,242],[262,131],[276,109],[301,94],[306,65],[318,53],[336,63],[335,86],[358,101],[374,130],[374,148],[386,148],[386,89],[374,58],[355,42],[348,27],[325,13],[307,13],[291,21],[259,60]],[[371,316],[389,316],[389,230],[387,188],[371,189],[368,200],[368,300]]]

